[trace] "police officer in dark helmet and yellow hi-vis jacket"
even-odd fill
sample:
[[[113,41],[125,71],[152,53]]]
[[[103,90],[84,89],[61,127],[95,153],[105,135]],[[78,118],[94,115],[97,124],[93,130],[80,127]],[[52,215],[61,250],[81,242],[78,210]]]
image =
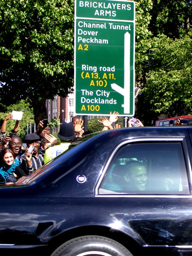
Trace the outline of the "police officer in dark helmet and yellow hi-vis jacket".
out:
[[[63,122],[60,126],[60,131],[57,134],[61,140],[60,145],[49,147],[45,151],[44,163],[48,163],[50,160],[67,150],[72,140],[76,137],[74,132],[74,125],[72,122]]]

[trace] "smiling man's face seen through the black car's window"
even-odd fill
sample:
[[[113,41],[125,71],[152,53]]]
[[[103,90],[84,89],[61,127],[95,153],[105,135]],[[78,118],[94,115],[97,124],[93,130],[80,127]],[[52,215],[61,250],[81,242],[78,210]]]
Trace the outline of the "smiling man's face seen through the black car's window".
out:
[[[145,166],[133,166],[131,170],[131,179],[138,190],[145,190],[147,182],[147,173]]]

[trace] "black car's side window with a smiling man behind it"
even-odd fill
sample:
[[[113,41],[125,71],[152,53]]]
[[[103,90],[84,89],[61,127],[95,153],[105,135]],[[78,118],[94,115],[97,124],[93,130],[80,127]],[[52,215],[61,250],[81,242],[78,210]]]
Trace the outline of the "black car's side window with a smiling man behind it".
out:
[[[181,143],[135,143],[117,151],[99,194],[189,194]]]

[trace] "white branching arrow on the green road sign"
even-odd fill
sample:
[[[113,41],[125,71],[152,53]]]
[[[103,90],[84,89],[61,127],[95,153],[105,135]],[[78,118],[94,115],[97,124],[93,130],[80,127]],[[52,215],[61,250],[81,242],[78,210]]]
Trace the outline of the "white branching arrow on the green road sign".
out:
[[[124,96],[124,113],[130,113],[130,34],[124,36],[124,88],[111,84],[111,88]]]

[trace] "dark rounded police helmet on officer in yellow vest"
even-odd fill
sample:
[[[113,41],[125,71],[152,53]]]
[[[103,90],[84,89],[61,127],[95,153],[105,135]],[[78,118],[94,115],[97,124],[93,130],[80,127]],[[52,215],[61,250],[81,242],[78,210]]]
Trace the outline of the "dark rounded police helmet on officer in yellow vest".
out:
[[[63,122],[60,126],[60,131],[57,134],[61,140],[72,140],[76,137],[72,122]]]

